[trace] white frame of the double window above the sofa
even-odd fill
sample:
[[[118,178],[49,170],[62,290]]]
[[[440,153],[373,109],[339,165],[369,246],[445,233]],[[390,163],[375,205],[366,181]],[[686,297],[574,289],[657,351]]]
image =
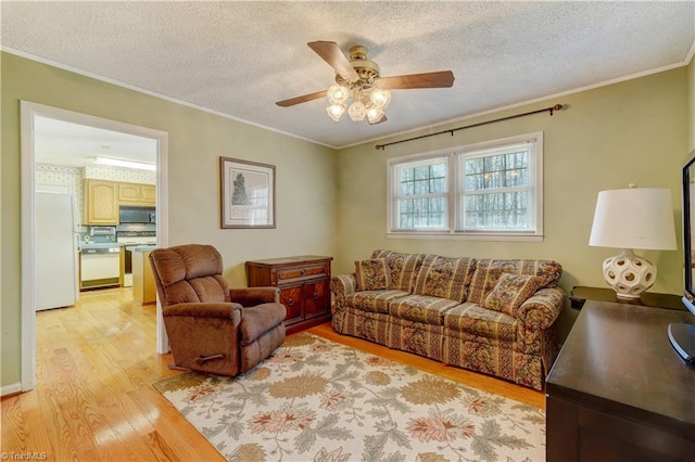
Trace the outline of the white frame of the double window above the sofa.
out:
[[[463,171],[463,159],[466,157],[479,157],[493,155],[494,151],[504,151],[508,146],[523,142],[534,143],[529,158],[529,181],[531,183],[529,219],[534,226],[532,230],[466,230],[457,229],[460,220],[459,201],[465,197],[459,183],[459,174]],[[485,152],[488,151],[488,152]],[[396,188],[399,181],[395,176],[403,164],[428,162],[435,157],[447,157],[447,223],[444,229],[399,229]],[[464,194],[462,194],[464,193]],[[387,159],[387,238],[391,239],[462,239],[472,241],[543,241],[543,132],[525,133],[515,137],[484,141],[480,143],[456,146],[435,152],[414,154],[403,157]]]

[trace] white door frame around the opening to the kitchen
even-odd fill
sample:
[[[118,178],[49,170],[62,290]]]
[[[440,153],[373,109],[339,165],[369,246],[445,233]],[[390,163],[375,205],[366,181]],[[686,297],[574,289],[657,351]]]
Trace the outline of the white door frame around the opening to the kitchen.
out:
[[[47,106],[29,101],[20,102],[21,112],[21,176],[22,176],[22,392],[36,384],[36,310],[34,298],[34,192],[36,182],[35,125],[36,116],[50,117],[73,124],[150,138],[157,141],[156,155],[156,241],[168,245],[168,133],[147,127],[111,120],[88,114]],[[156,352],[169,350],[162,320],[162,306],[156,303]]]

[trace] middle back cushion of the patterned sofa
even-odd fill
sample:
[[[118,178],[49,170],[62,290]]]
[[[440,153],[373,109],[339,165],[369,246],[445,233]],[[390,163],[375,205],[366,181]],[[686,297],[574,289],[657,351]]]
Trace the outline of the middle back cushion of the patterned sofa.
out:
[[[463,303],[475,269],[476,260],[472,258],[428,255],[422,261],[413,293]]]

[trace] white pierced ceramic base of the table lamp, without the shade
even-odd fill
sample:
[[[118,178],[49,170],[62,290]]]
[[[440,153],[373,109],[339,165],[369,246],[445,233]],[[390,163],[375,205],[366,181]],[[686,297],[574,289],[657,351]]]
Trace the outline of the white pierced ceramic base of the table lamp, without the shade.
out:
[[[626,249],[604,261],[604,278],[618,298],[640,298],[643,292],[654,285],[656,267],[632,249]]]

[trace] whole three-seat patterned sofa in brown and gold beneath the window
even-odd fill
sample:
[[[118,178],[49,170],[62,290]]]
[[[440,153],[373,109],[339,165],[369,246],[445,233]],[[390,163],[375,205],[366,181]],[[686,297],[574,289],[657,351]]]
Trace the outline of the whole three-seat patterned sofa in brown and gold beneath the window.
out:
[[[553,260],[375,251],[331,280],[346,335],[542,389],[565,306]]]

